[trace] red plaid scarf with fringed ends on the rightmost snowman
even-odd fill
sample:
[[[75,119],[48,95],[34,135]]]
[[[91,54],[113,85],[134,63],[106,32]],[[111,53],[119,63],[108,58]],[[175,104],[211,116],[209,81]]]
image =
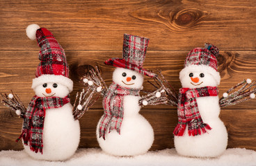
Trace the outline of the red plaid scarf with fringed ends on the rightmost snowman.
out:
[[[201,135],[201,130],[202,133],[206,133],[206,129],[210,130],[211,127],[208,124],[202,122],[196,98],[217,95],[218,89],[216,86],[205,86],[198,89],[179,89],[179,122],[173,131],[174,135],[183,136],[186,125],[189,126],[189,136]]]

